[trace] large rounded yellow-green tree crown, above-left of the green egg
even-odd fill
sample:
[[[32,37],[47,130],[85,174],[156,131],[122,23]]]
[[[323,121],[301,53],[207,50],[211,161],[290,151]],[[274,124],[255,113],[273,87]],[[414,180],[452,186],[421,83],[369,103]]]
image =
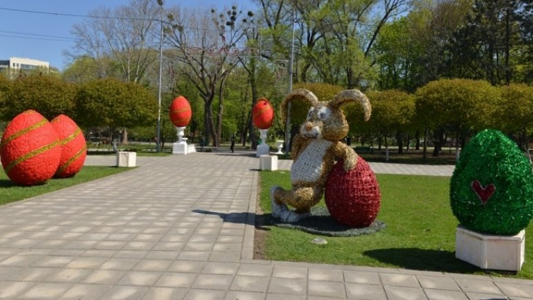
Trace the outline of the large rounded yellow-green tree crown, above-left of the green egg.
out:
[[[485,80],[442,79],[415,93],[417,121],[431,129],[452,127],[457,132],[487,125],[499,93]]]

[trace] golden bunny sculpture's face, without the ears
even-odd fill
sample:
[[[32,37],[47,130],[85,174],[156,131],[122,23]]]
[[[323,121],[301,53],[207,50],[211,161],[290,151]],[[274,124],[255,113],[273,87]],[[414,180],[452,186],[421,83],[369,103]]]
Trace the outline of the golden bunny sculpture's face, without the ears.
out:
[[[318,103],[309,109],[307,119],[300,127],[300,134],[308,139],[338,141],[348,132],[345,116],[340,109],[332,109],[327,103]]]

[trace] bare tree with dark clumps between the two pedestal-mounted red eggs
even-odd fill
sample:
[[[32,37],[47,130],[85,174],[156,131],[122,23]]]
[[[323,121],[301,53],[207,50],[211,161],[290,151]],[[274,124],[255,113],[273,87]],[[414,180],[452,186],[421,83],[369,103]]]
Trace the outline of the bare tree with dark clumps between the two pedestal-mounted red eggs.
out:
[[[186,76],[204,99],[204,134],[218,147],[222,134],[224,115],[224,85],[244,50],[242,39],[246,33],[252,12],[246,13],[233,6],[226,14],[211,10],[191,12],[175,8],[168,15],[172,24],[165,28],[168,42],[174,47],[175,57],[180,62],[181,75]],[[218,96],[218,107],[213,101]],[[215,113],[217,116],[215,117]],[[215,123],[216,118],[216,123]]]

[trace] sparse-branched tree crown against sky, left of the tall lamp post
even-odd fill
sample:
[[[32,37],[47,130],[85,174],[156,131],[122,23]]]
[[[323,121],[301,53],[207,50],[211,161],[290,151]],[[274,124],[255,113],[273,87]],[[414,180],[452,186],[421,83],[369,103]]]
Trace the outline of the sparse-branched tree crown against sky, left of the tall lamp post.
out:
[[[96,78],[117,76],[127,82],[143,82],[158,58],[159,6],[153,0],[131,0],[127,6],[98,8],[89,19],[75,24],[73,58],[91,58],[98,66]],[[82,69],[80,71],[84,71]]]

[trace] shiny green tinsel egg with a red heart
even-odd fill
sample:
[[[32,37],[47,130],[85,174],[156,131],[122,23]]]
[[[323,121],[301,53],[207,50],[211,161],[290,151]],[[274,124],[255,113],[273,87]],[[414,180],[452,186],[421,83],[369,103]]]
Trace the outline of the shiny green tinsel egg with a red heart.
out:
[[[450,200],[453,214],[467,229],[514,235],[533,217],[530,161],[502,132],[483,130],[461,152]]]

